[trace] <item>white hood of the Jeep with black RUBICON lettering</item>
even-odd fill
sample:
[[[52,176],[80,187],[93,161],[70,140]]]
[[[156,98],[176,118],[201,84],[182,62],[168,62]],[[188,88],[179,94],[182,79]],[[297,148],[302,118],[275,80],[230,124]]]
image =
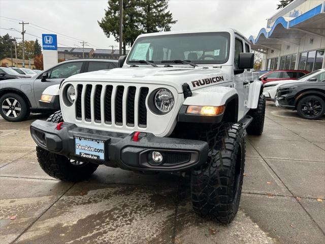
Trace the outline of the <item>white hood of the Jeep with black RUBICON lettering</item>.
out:
[[[101,70],[73,75],[67,81],[107,81],[134,82],[145,84],[162,84],[175,87],[179,93],[183,92],[182,84],[189,84],[191,90],[207,87],[217,82],[230,79],[225,72],[230,67],[123,67],[112,70]]]

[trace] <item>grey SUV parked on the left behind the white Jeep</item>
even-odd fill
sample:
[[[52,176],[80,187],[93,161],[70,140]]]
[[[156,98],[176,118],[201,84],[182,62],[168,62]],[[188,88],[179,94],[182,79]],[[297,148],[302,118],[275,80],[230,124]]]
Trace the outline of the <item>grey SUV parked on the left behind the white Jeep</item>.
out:
[[[49,112],[39,103],[44,89],[79,73],[108,70],[118,66],[114,59],[71,59],[25,79],[0,82],[0,114],[8,121],[21,121],[30,112]]]

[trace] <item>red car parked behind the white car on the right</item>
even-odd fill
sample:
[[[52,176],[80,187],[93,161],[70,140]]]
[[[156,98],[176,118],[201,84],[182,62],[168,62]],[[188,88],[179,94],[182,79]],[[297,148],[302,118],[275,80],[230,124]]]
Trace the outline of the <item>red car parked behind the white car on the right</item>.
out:
[[[307,70],[272,70],[259,76],[259,80],[264,84],[275,80],[297,80],[308,73]]]

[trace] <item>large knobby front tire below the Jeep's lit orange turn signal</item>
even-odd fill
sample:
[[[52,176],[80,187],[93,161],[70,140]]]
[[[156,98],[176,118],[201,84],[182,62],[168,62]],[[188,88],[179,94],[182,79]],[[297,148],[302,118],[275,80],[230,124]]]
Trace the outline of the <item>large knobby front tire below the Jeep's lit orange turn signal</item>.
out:
[[[203,217],[230,223],[238,211],[245,163],[241,125],[211,125],[200,140],[209,143],[207,162],[191,172],[193,210]]]

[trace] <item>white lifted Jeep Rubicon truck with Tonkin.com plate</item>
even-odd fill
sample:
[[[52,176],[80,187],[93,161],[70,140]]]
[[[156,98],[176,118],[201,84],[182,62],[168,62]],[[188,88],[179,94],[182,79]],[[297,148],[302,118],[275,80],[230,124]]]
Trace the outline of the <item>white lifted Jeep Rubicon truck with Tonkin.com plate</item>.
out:
[[[101,165],[191,177],[194,211],[230,223],[243,184],[245,130],[265,98],[249,42],[234,29],[140,35],[119,67],[71,76],[60,107],[30,126],[43,170],[79,181]]]

